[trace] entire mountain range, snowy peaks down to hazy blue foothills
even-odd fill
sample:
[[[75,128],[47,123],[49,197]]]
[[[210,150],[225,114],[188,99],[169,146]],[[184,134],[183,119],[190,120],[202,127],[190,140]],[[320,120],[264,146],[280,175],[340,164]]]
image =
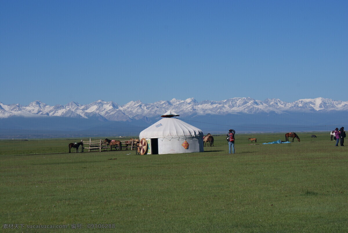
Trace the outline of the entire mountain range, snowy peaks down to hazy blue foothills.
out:
[[[146,104],[138,100],[123,106],[103,100],[65,106],[48,106],[38,100],[28,106],[0,102],[0,138],[139,135],[168,110],[204,133],[225,133],[229,128],[237,133],[331,131],[347,123],[348,102],[324,98],[292,103],[252,98],[172,99]]]

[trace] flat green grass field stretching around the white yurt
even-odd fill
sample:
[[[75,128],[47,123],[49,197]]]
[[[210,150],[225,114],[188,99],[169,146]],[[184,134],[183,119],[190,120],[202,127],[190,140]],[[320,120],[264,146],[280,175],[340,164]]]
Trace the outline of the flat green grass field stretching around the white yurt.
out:
[[[348,232],[348,147],[311,134],[268,145],[284,133],[236,134],[234,155],[223,135],[203,153],[175,155],[69,154],[80,139],[0,140],[1,230]],[[68,229],[27,228],[39,224]]]

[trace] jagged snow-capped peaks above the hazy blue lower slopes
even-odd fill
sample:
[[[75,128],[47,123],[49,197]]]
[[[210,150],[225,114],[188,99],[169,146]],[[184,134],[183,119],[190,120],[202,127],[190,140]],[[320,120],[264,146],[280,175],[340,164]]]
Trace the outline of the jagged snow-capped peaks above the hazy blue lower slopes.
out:
[[[39,100],[27,106],[20,104],[6,105],[0,102],[0,118],[11,116],[63,116],[72,118],[98,119],[101,121],[131,122],[157,118],[168,110],[173,110],[181,117],[227,114],[259,114],[259,113],[325,113],[329,111],[348,110],[348,101],[324,98],[300,99],[295,102],[284,102],[280,99],[264,101],[253,98],[231,98],[222,101],[205,100],[198,102],[194,98],[187,100],[161,100],[154,103],[143,103],[140,100],[118,105],[113,101],[98,100],[88,105],[70,102],[67,105],[49,106]]]

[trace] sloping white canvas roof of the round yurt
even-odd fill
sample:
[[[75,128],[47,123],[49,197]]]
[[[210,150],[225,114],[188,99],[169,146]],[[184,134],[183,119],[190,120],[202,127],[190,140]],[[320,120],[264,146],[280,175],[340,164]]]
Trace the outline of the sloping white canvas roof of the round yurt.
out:
[[[139,136],[140,138],[192,138],[203,136],[203,132],[177,118],[164,117],[141,131]]]

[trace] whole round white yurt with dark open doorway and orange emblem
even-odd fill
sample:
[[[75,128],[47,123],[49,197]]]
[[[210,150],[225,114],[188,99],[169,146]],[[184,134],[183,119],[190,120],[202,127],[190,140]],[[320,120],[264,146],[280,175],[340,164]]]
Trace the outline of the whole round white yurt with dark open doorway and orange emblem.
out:
[[[204,151],[203,132],[175,118],[177,116],[179,115],[169,110],[161,116],[162,119],[140,132],[139,138],[145,139],[147,144],[144,154],[163,155]]]

